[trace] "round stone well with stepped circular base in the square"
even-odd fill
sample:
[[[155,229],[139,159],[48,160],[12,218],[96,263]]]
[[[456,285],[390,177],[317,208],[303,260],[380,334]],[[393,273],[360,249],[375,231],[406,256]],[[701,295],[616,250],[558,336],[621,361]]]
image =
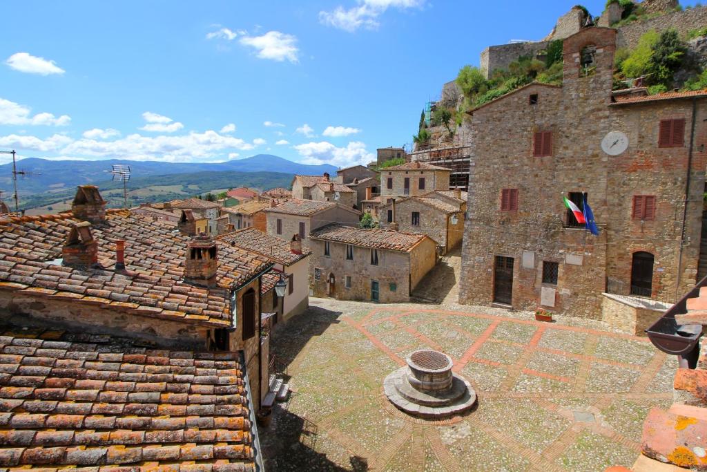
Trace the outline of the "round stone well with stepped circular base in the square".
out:
[[[477,394],[464,377],[452,372],[452,358],[443,352],[411,352],[407,366],[383,381],[385,395],[400,410],[423,418],[442,418],[472,408]]]

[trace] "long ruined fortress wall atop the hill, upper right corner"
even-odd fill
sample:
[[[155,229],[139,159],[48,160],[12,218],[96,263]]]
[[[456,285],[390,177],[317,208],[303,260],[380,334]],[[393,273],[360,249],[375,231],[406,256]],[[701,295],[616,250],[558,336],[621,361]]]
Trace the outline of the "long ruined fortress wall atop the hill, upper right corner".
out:
[[[645,4],[645,0],[643,2]],[[634,21],[618,29],[617,47],[632,49],[638,45],[649,30],[665,31],[675,28],[680,35],[690,30],[705,28],[707,25],[707,6],[698,6],[684,11],[674,11],[645,21]]]

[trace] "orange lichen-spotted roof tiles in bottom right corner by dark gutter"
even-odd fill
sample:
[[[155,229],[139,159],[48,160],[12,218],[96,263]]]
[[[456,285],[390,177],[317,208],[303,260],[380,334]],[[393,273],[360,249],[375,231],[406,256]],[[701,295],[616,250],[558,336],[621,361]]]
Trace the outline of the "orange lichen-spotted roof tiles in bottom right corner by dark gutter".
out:
[[[678,325],[707,326],[707,287],[687,299],[687,313],[675,315]],[[641,456],[633,468],[606,472],[707,471],[707,338],[701,340],[696,369],[677,369],[674,401],[668,410],[653,408],[643,422]]]

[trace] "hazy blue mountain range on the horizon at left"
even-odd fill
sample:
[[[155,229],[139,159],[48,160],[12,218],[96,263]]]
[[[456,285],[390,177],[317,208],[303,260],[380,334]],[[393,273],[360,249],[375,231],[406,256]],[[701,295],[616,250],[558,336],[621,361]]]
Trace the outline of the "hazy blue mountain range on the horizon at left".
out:
[[[198,172],[278,172],[286,174],[321,175],[328,172],[336,174],[337,168],[329,164],[308,166],[305,164],[288,161],[271,154],[257,154],[245,159],[238,159],[224,163],[170,163],[157,161],[124,161],[108,159],[103,161],[49,161],[47,159],[28,158],[18,161],[18,171],[25,171],[28,176],[21,177],[18,193],[21,197],[28,197],[45,192],[63,192],[73,189],[76,185],[99,185],[111,180],[110,171],[114,164],[130,166],[132,179],[146,178],[156,175],[185,174]],[[233,186],[238,186],[234,183]],[[0,166],[0,190],[5,196],[12,192],[12,163]],[[47,195],[48,196],[48,195]]]

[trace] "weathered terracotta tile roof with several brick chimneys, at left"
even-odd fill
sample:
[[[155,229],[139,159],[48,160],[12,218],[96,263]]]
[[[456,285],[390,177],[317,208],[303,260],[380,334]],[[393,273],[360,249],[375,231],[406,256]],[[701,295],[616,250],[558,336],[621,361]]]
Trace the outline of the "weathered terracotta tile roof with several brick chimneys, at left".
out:
[[[167,221],[153,221],[127,210],[107,210],[105,224],[92,227],[100,267],[52,263],[62,258],[70,225],[76,223],[70,213],[0,218],[0,290],[104,304],[106,309],[142,316],[230,326],[231,287],[240,286],[271,265],[261,255],[219,243],[216,286],[185,283],[189,238]],[[118,239],[127,241],[128,274],[115,271]]]

